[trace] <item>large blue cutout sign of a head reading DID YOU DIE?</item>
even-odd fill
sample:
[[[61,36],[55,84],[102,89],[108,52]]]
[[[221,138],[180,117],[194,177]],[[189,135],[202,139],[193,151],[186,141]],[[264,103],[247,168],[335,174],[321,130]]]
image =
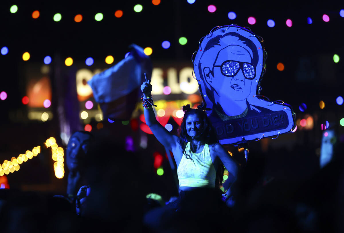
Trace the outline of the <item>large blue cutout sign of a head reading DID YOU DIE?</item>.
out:
[[[221,144],[294,129],[288,104],[259,95],[266,56],[262,38],[237,25],[215,27],[200,40],[193,56],[195,78]]]

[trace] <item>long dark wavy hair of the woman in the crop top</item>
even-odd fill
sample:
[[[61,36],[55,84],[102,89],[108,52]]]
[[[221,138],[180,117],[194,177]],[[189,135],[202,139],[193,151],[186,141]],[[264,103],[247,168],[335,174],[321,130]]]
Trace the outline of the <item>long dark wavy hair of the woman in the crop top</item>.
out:
[[[215,133],[214,127],[203,109],[204,109],[204,103],[199,105],[197,109],[192,109],[190,107],[190,104],[187,104],[186,106],[182,107],[182,110],[184,111],[184,117],[183,117],[182,123],[180,124],[180,128],[178,129],[179,143],[182,146],[183,155],[185,155],[187,159],[191,159],[192,161],[193,159],[191,158],[191,155],[188,155],[185,152],[185,147],[186,147],[187,142],[190,142],[192,140],[192,138],[186,132],[186,118],[189,115],[195,114],[203,122],[203,129],[200,132],[200,135],[201,135],[200,139],[202,142],[208,145],[218,143],[216,139],[216,133]],[[221,162],[221,160],[219,160],[218,167],[216,170],[215,187],[219,188],[219,186],[222,185],[224,170],[225,168],[223,166],[223,163]]]

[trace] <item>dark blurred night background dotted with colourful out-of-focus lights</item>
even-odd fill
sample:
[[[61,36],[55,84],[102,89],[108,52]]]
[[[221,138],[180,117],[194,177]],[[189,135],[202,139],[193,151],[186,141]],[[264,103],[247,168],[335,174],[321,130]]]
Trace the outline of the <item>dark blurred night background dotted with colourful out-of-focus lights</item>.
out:
[[[191,56],[200,38],[222,25],[250,27],[264,38],[267,71],[260,93],[291,104],[296,113],[292,133],[249,143],[248,174],[305,180],[320,169],[327,130],[335,132],[332,144],[344,141],[339,3],[6,0],[0,5],[1,188],[63,193],[68,172],[63,155],[71,133],[107,128],[128,150],[142,152],[151,177],[147,189],[175,193],[173,164],[144,123],[139,93],[126,100],[136,103],[128,119],[104,119],[87,81],[125,58],[130,44],[141,46],[153,64],[158,120],[176,134],[181,106],[202,102]],[[333,153],[325,154],[331,160]],[[236,156],[245,163],[242,154]],[[115,161],[112,155],[95,158]]]

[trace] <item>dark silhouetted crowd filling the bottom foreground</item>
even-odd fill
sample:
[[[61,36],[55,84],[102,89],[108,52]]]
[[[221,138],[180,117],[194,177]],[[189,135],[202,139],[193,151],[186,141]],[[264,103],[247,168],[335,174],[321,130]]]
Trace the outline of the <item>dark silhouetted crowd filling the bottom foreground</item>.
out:
[[[177,211],[147,218],[148,212],[175,198],[147,196],[150,180],[141,166],[144,155],[126,151],[123,143],[111,138],[99,131],[87,139],[78,165],[82,181],[75,183],[72,193],[54,196],[0,189],[0,231],[344,232],[339,149],[332,162],[316,169],[310,178],[300,177],[300,182],[279,178],[278,172],[264,176],[259,167],[266,162],[251,152],[252,168],[247,166],[237,181],[233,207],[221,200],[220,190],[201,189],[187,192]],[[287,152],[273,153],[288,156]],[[302,166],[307,169],[308,164]]]

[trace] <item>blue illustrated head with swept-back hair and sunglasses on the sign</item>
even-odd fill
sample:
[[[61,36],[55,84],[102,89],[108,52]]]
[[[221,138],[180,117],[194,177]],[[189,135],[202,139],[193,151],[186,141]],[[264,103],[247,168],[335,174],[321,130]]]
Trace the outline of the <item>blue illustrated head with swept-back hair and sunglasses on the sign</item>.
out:
[[[236,32],[214,37],[205,45],[198,68],[202,69],[208,98],[219,113],[236,116],[247,109],[257,76],[257,50],[252,41]]]

